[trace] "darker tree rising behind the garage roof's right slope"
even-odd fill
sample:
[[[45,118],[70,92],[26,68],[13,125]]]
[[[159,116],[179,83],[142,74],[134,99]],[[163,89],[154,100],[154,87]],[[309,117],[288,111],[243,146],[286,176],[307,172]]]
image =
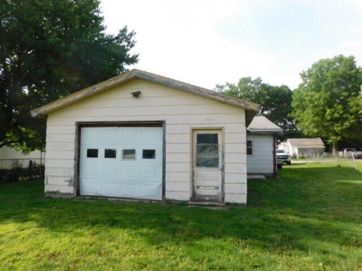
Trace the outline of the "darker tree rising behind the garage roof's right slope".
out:
[[[272,86],[262,82],[260,77],[242,77],[235,85],[226,83],[216,85],[216,90],[227,95],[235,96],[261,105],[259,115],[267,117],[283,130],[295,132],[295,125],[289,114],[292,112],[292,91],[289,87]]]

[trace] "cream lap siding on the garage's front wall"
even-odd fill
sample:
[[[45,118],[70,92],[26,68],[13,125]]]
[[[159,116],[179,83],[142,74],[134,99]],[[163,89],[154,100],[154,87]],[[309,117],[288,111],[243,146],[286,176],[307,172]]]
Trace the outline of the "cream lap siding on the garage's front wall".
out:
[[[139,98],[130,95],[136,90],[141,91]],[[246,202],[244,109],[139,79],[48,115],[46,191],[70,189],[69,179],[74,177],[75,122],[161,120],[166,121],[167,199],[190,199],[191,127],[223,127],[225,199]]]

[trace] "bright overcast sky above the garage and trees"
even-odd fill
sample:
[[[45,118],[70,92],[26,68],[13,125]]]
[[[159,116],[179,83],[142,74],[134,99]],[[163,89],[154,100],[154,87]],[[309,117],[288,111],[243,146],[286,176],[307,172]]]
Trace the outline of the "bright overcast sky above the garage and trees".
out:
[[[319,59],[362,65],[362,0],[101,0],[107,33],[136,31],[130,68],[213,89],[244,76],[292,89]]]

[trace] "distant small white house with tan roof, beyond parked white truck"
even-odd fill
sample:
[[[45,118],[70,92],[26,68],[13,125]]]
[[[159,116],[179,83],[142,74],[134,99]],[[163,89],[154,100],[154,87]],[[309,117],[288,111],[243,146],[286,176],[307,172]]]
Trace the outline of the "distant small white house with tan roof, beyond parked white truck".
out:
[[[278,149],[289,152],[292,157],[307,157],[321,154],[324,152],[325,146],[320,139],[317,138],[288,138],[286,142],[281,142]]]

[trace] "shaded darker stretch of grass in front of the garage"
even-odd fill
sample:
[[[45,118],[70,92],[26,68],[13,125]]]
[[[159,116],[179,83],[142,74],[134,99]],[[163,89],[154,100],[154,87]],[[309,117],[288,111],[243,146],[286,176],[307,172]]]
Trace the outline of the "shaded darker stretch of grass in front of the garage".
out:
[[[157,203],[42,198],[41,182],[11,184],[0,192],[0,223],[35,224],[52,236],[114,241],[127,235],[152,247],[252,245],[286,249],[355,246],[362,238],[362,174],[346,168],[286,167],[281,178],[251,181],[246,208],[210,210]],[[263,206],[263,208],[260,208]],[[341,223],[343,222],[343,223]],[[204,242],[208,240],[207,242]],[[230,248],[225,248],[230,249]],[[329,252],[331,252],[329,251]]]

